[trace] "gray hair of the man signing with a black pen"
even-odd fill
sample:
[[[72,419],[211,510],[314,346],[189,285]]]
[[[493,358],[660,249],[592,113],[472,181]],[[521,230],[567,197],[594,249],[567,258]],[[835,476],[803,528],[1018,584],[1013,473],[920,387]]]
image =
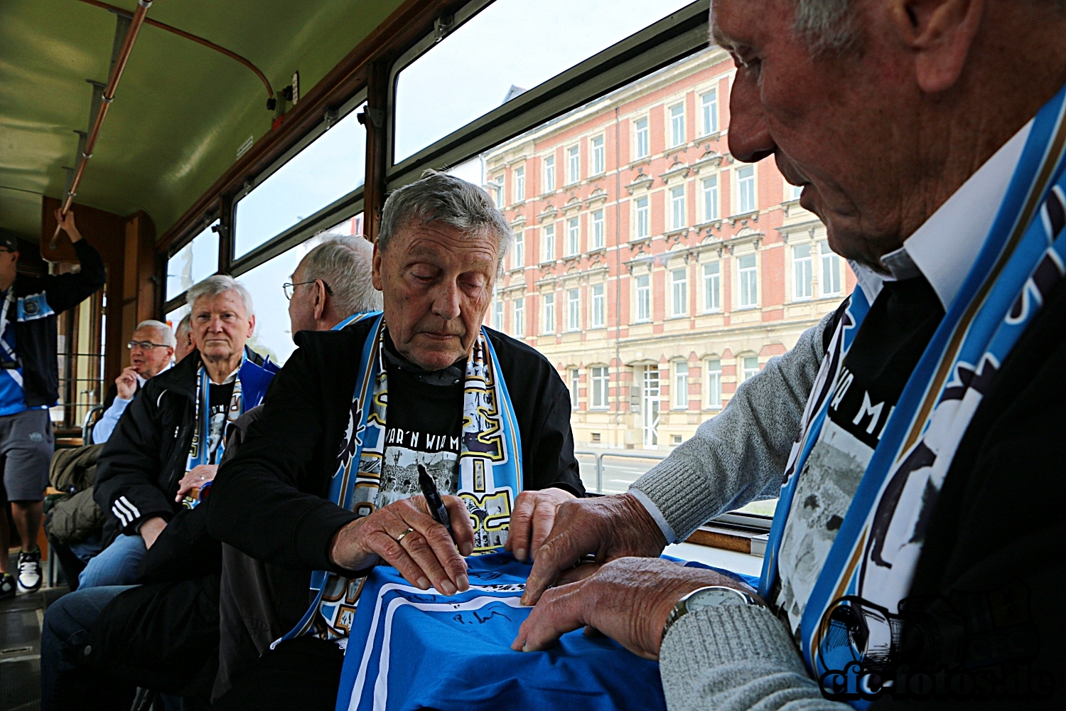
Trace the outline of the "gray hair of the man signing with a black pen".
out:
[[[499,266],[515,236],[503,214],[484,190],[461,178],[426,171],[415,182],[394,191],[385,200],[377,248],[383,252],[398,229],[411,220],[427,225],[439,220],[469,237],[492,235],[499,243]]]

